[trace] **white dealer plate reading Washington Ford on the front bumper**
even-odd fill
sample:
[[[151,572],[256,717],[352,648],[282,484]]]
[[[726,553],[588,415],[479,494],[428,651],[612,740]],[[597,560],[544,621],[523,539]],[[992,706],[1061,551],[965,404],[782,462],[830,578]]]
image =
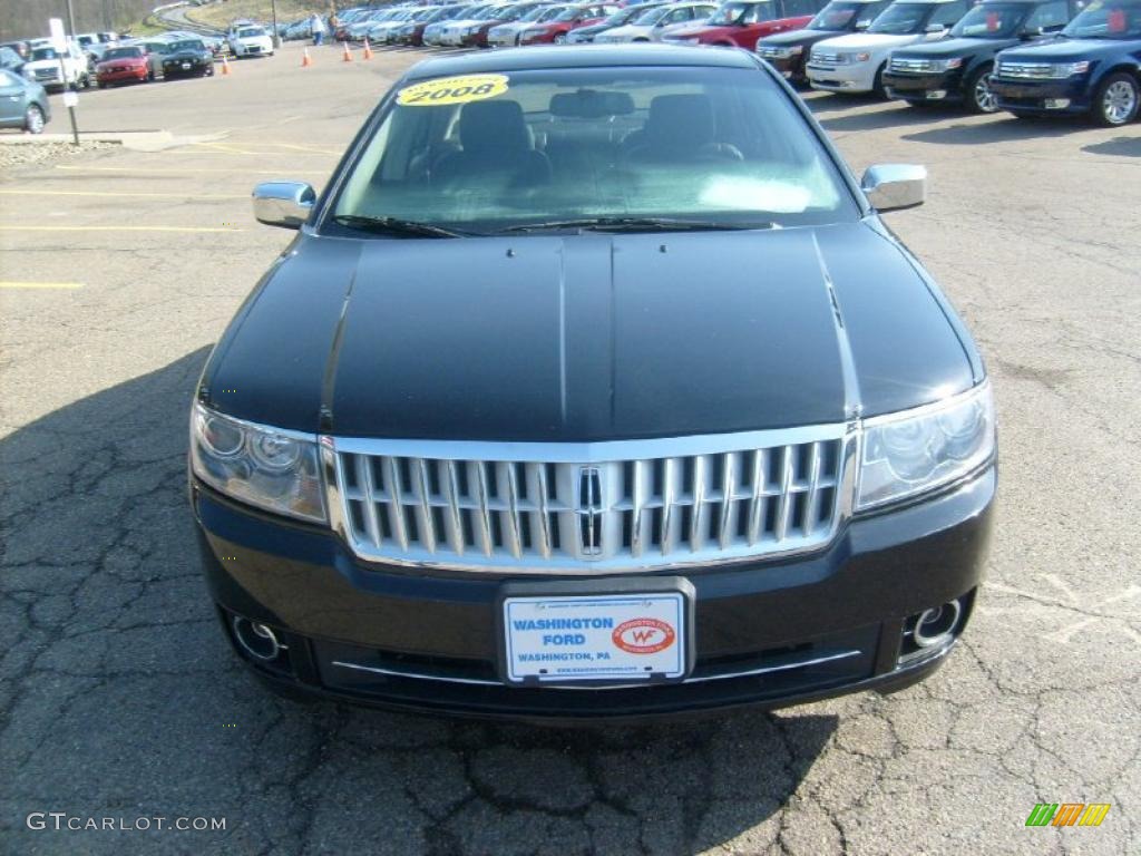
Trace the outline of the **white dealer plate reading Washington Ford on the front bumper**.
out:
[[[685,616],[675,591],[507,598],[504,672],[513,683],[680,678]]]

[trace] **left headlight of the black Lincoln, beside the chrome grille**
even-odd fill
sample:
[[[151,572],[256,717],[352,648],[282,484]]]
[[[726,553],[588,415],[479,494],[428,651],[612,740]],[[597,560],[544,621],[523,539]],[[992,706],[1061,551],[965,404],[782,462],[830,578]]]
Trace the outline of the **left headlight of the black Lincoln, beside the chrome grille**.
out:
[[[211,487],[267,511],[325,523],[317,438],[230,419],[194,405],[194,474]]]

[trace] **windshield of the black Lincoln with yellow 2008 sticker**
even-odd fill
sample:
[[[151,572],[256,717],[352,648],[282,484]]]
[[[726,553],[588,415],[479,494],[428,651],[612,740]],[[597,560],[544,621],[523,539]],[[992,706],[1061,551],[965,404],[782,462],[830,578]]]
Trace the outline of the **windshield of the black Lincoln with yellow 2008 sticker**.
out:
[[[370,135],[334,223],[495,234],[583,219],[741,228],[859,216],[788,96],[745,68],[438,79],[402,89]]]

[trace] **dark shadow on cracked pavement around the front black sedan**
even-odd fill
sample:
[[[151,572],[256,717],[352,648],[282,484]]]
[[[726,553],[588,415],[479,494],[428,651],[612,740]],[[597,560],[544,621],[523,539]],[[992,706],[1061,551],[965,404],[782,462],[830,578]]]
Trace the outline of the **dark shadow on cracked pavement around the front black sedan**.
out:
[[[0,439],[0,766],[14,851],[680,854],[777,841],[779,809],[835,716],[560,729],[266,692],[224,641],[197,566],[185,457],[207,355]],[[81,842],[25,829],[25,815],[50,810],[227,825]]]

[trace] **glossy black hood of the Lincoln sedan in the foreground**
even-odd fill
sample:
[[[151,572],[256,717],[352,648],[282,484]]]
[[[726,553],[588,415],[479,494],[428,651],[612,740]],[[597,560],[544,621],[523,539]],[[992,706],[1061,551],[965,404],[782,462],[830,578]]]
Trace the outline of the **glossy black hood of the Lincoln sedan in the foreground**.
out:
[[[586,442],[832,423],[969,388],[968,346],[881,229],[301,236],[203,396],[341,436]]]

